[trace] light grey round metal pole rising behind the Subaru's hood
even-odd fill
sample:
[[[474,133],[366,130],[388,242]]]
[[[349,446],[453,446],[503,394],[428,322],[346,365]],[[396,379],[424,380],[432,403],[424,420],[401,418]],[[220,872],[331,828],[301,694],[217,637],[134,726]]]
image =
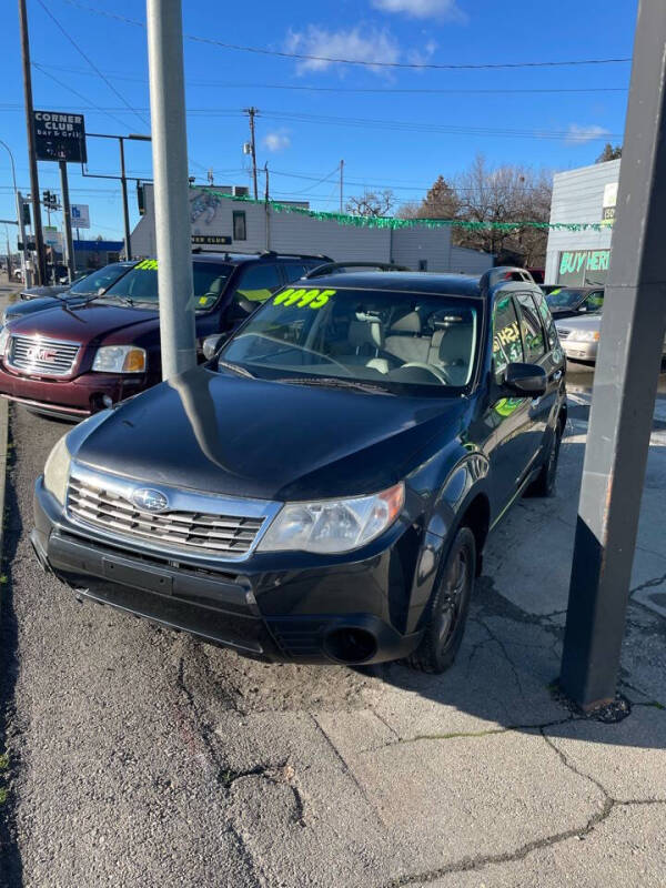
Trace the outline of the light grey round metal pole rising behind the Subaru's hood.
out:
[[[181,0],[147,0],[162,376],[196,364]]]

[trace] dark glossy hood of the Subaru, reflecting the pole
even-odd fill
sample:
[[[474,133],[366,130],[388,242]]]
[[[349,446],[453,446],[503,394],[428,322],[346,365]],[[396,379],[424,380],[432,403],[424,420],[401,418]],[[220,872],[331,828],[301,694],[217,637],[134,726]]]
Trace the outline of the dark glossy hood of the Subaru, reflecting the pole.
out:
[[[74,458],[141,483],[261,500],[390,487],[467,398],[402,397],[248,380],[199,367],[125,402]],[[443,438],[444,442],[444,438]]]

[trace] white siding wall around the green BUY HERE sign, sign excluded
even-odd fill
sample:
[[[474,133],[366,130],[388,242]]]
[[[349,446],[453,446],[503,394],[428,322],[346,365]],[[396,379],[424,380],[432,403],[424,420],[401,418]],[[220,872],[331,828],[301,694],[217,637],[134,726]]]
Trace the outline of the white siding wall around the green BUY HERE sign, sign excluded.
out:
[[[603,216],[604,189],[619,179],[619,160],[579,167],[577,170],[556,173],[553,178],[551,223],[601,222]],[[602,231],[548,232],[546,248],[545,283],[557,283],[559,253],[563,251],[608,250],[610,226]]]

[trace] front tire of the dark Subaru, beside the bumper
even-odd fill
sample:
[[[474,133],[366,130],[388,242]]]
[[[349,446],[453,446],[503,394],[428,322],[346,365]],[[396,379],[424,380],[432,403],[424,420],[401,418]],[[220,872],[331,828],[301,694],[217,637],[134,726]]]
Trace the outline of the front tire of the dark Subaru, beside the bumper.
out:
[[[461,527],[427,606],[425,632],[408,663],[424,673],[448,669],[461,646],[476,576],[476,539]]]

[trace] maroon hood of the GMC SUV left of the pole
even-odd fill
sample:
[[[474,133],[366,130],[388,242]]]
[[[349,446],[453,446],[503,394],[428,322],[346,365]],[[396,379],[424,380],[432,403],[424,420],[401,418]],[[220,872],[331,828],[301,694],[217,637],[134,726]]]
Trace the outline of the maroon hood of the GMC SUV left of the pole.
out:
[[[101,301],[71,307],[60,302],[52,309],[28,314],[11,322],[10,331],[20,336],[44,336],[67,342],[94,342],[110,333],[154,319],[155,311],[131,309]]]

